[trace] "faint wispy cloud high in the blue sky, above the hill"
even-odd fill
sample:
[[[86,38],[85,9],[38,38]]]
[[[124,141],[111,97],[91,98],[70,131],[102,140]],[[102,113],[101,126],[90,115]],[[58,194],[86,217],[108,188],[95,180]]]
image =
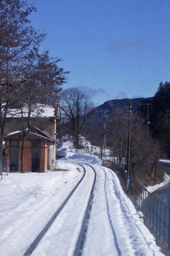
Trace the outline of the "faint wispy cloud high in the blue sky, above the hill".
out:
[[[154,49],[156,46],[145,41],[135,42],[113,42],[105,48],[109,54],[118,56],[121,53],[130,55],[140,55],[146,49]]]

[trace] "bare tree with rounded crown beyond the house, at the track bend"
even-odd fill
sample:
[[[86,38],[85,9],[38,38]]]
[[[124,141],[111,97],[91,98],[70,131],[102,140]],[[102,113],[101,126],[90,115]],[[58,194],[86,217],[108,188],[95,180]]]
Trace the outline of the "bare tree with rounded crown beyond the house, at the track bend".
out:
[[[67,133],[74,138],[74,146],[79,148],[79,138],[86,126],[86,118],[92,103],[89,97],[80,89],[73,87],[61,94],[61,109],[67,127]]]

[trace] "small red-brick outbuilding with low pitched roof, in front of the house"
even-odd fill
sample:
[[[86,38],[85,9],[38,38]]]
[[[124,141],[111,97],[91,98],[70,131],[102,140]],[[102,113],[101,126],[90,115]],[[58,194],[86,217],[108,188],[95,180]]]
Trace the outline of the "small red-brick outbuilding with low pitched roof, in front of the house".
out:
[[[10,172],[20,171],[23,135],[22,131],[9,133],[4,138],[6,168]],[[46,172],[54,168],[54,154],[56,154],[56,139],[52,135],[32,127],[24,146],[24,172]]]

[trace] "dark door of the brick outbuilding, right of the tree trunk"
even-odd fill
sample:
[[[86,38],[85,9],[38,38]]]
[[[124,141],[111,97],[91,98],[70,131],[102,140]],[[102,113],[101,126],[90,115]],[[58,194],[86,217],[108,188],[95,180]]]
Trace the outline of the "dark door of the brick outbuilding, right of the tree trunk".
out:
[[[41,148],[39,147],[39,143],[32,142],[32,150],[31,150],[31,171],[32,172],[40,172],[40,155]]]

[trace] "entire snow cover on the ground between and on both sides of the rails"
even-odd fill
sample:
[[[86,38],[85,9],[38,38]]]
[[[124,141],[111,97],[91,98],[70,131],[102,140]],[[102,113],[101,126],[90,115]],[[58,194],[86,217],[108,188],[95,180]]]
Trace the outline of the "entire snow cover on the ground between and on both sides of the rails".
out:
[[[94,179],[86,163],[95,168],[96,186],[82,255],[163,255],[116,174],[101,166],[96,156],[71,155],[67,146],[63,151],[70,158],[57,161],[60,171],[10,173],[0,180],[1,256],[24,254],[82,177],[78,163],[87,168],[86,176],[32,256],[73,255]]]

